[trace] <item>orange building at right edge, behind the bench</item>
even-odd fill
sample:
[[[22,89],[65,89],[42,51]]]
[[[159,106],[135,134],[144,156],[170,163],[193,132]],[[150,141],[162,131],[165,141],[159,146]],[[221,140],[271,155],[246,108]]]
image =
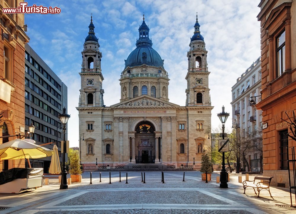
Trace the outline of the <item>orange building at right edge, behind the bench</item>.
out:
[[[290,133],[285,112],[296,110],[296,2],[262,0],[261,22],[263,175],[273,176],[271,185],[289,187],[287,146],[296,142]]]

